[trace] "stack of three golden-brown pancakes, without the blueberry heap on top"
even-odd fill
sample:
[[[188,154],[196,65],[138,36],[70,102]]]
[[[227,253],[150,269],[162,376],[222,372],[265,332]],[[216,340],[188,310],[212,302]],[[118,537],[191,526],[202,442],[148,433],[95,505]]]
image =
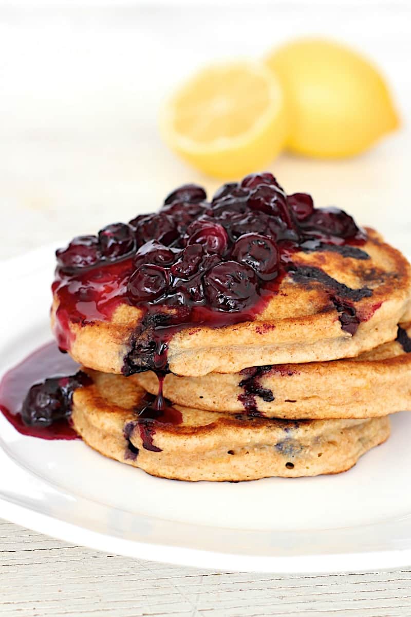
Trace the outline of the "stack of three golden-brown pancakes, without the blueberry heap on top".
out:
[[[372,230],[360,249],[296,252],[261,312],[168,336],[165,402],[139,355],[152,335],[140,307],[79,323],[55,292],[54,328],[60,311],[92,379],[73,395],[73,425],[105,456],[164,478],[348,470],[388,438],[388,415],[411,406],[410,274]]]

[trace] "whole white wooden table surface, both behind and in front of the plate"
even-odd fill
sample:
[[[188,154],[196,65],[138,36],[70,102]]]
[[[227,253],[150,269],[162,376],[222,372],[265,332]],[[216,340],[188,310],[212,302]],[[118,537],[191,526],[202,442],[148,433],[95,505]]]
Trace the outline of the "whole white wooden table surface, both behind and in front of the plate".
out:
[[[384,68],[407,120],[407,0],[175,4],[0,0],[0,259],[152,210],[187,180],[216,188],[169,154],[155,123],[169,86],[212,58],[261,56],[307,32],[334,35]],[[272,170],[290,192],[346,207],[410,253],[410,141],[404,128],[360,159],[282,156]],[[2,617],[405,617],[410,581],[411,569],[271,576],[177,568],[0,521]]]

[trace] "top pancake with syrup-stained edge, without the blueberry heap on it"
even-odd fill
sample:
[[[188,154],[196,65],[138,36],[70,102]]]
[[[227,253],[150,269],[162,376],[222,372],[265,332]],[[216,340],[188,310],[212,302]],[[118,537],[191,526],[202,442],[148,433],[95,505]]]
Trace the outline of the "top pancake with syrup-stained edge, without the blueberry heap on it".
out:
[[[177,310],[173,305],[160,303],[147,313],[123,296],[108,315],[95,300],[87,300],[87,292],[92,299],[100,285],[100,273],[96,280],[93,273],[60,273],[54,284],[52,327],[60,347],[77,362],[125,375],[153,369],[158,358],[160,368],[195,377],[237,373],[248,366],[355,357],[393,341],[397,324],[411,321],[411,278],[405,257],[372,230],[360,249],[349,248],[296,252],[293,269],[265,304],[260,302],[261,310],[224,314],[241,323],[221,326],[216,321],[213,327],[190,322],[168,327],[169,315]],[[104,276],[110,282],[107,268]],[[113,307],[115,300],[116,291],[110,291],[104,306]],[[217,317],[221,319],[221,312]]]

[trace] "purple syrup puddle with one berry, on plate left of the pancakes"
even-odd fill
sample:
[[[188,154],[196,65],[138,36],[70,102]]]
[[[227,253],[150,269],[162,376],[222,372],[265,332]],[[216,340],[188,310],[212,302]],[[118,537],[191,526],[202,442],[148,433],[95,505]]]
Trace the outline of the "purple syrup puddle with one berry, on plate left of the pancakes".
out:
[[[70,426],[71,397],[89,378],[78,369],[55,342],[40,347],[2,378],[1,412],[23,435],[79,439]]]

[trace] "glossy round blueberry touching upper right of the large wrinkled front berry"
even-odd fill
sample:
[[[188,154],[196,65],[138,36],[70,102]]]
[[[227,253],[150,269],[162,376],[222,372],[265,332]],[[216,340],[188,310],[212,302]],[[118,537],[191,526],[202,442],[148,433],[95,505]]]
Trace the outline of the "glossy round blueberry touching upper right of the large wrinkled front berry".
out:
[[[271,238],[255,233],[240,236],[231,255],[237,262],[251,266],[262,279],[277,275],[279,251]]]

